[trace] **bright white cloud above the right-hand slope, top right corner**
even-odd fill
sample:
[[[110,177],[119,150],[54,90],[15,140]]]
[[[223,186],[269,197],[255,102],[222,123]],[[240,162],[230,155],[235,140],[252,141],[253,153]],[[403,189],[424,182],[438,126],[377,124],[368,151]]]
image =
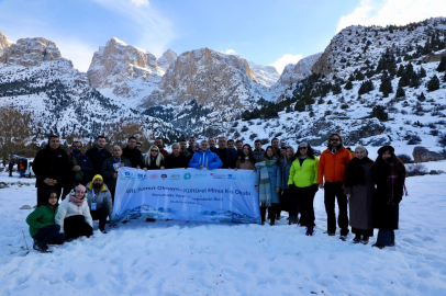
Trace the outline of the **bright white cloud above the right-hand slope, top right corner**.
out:
[[[349,25],[405,25],[444,16],[445,11],[444,0],[363,0],[353,13],[339,19],[336,32]]]

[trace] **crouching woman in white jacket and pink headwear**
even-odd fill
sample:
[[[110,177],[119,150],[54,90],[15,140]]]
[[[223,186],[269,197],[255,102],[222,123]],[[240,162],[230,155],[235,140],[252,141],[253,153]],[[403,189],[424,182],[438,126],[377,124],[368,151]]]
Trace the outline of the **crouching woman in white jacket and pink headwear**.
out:
[[[86,187],[79,184],[59,205],[56,224],[60,225],[60,232],[65,232],[67,240],[93,234],[93,219],[86,197]]]

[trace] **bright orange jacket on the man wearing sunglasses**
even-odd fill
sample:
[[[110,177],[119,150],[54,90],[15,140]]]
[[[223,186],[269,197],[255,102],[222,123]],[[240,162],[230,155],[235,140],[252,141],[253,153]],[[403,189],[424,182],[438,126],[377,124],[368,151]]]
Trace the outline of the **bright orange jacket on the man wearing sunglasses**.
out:
[[[352,153],[344,147],[332,153],[330,149],[322,152],[317,166],[317,184],[325,182],[344,182],[344,171],[348,161],[352,160]]]

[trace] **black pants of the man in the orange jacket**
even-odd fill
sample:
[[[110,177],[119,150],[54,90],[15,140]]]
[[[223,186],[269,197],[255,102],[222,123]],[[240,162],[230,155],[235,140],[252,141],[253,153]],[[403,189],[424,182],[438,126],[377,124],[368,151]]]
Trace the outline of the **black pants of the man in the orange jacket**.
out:
[[[327,230],[330,232],[336,231],[336,213],[335,200],[337,198],[337,207],[339,214],[337,216],[337,225],[341,228],[341,235],[348,234],[348,212],[347,212],[347,196],[344,194],[343,182],[326,182],[324,184],[324,203],[325,212],[327,215]]]

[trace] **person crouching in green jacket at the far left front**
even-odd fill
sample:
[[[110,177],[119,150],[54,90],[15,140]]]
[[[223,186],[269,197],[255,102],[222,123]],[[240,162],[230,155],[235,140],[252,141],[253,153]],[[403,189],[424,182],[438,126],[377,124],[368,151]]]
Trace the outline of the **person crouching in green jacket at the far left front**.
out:
[[[34,239],[34,250],[46,253],[49,249],[48,244],[65,242],[65,237],[60,234],[60,225],[57,225],[55,220],[58,200],[57,191],[46,191],[42,196],[41,206],[26,217],[30,235]]]

